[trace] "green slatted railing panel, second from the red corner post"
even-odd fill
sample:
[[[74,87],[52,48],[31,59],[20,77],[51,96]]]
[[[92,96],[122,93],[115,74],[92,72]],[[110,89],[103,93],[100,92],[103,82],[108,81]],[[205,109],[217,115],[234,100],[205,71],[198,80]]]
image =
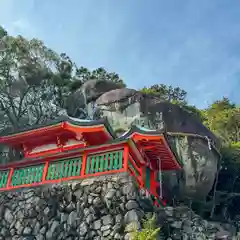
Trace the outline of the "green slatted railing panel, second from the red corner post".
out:
[[[46,180],[58,180],[61,178],[80,176],[82,158],[66,159],[50,163]]]

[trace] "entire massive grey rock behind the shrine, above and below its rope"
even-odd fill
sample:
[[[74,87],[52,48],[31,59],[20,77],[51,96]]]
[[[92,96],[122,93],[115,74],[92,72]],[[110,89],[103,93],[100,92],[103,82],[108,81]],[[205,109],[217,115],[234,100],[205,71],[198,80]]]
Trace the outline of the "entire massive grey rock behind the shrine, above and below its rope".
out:
[[[164,174],[166,193],[169,198],[173,192],[177,198],[206,197],[213,186],[219,161],[216,151],[209,148],[208,139],[216,144],[218,142],[214,134],[178,105],[160,102],[153,96],[134,89],[119,88],[113,83],[108,86],[104,82],[104,86],[97,87],[97,82],[90,82],[79,90],[85,93],[85,100],[76,97],[74,101],[79,106],[84,106],[85,102],[86,112],[94,118],[107,117],[118,135],[132,125],[150,129],[159,129],[164,125],[168,133],[173,133],[169,134],[169,143],[183,164],[183,172]],[[71,108],[75,110],[69,112],[77,112],[73,104]],[[81,114],[78,116],[81,117]]]

